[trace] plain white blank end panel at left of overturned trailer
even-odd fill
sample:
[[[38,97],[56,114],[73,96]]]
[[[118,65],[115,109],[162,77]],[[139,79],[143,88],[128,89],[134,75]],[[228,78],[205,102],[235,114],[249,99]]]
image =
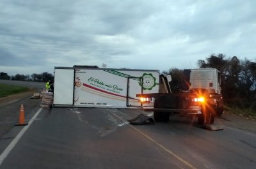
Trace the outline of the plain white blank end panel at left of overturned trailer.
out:
[[[54,105],[73,105],[74,69],[55,68],[54,70]]]

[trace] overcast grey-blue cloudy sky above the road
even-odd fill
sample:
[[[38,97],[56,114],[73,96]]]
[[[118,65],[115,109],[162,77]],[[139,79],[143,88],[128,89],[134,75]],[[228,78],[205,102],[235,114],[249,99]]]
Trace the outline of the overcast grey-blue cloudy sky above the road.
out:
[[[0,72],[168,71],[211,54],[256,61],[256,1],[1,0]]]

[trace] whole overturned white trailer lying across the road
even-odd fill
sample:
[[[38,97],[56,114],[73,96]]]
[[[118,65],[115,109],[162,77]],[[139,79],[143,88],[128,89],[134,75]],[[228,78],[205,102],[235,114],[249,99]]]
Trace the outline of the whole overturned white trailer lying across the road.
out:
[[[54,68],[54,107],[141,107],[136,94],[152,92],[159,92],[157,70]]]

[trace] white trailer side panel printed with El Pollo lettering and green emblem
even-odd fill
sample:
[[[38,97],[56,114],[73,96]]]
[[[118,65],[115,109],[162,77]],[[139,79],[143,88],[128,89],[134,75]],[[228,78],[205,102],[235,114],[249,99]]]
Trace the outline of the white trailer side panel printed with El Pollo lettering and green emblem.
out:
[[[143,77],[143,87],[138,77]],[[143,93],[158,92],[158,82],[158,71],[77,68],[74,106],[141,106],[136,94],[141,93],[141,89]]]

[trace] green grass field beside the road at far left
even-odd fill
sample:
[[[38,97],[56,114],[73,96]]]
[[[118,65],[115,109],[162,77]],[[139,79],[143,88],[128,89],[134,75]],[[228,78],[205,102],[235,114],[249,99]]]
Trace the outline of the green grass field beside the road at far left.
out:
[[[17,94],[20,92],[29,91],[29,87],[17,86],[17,85],[6,85],[0,84],[0,98],[4,98],[11,94]]]

